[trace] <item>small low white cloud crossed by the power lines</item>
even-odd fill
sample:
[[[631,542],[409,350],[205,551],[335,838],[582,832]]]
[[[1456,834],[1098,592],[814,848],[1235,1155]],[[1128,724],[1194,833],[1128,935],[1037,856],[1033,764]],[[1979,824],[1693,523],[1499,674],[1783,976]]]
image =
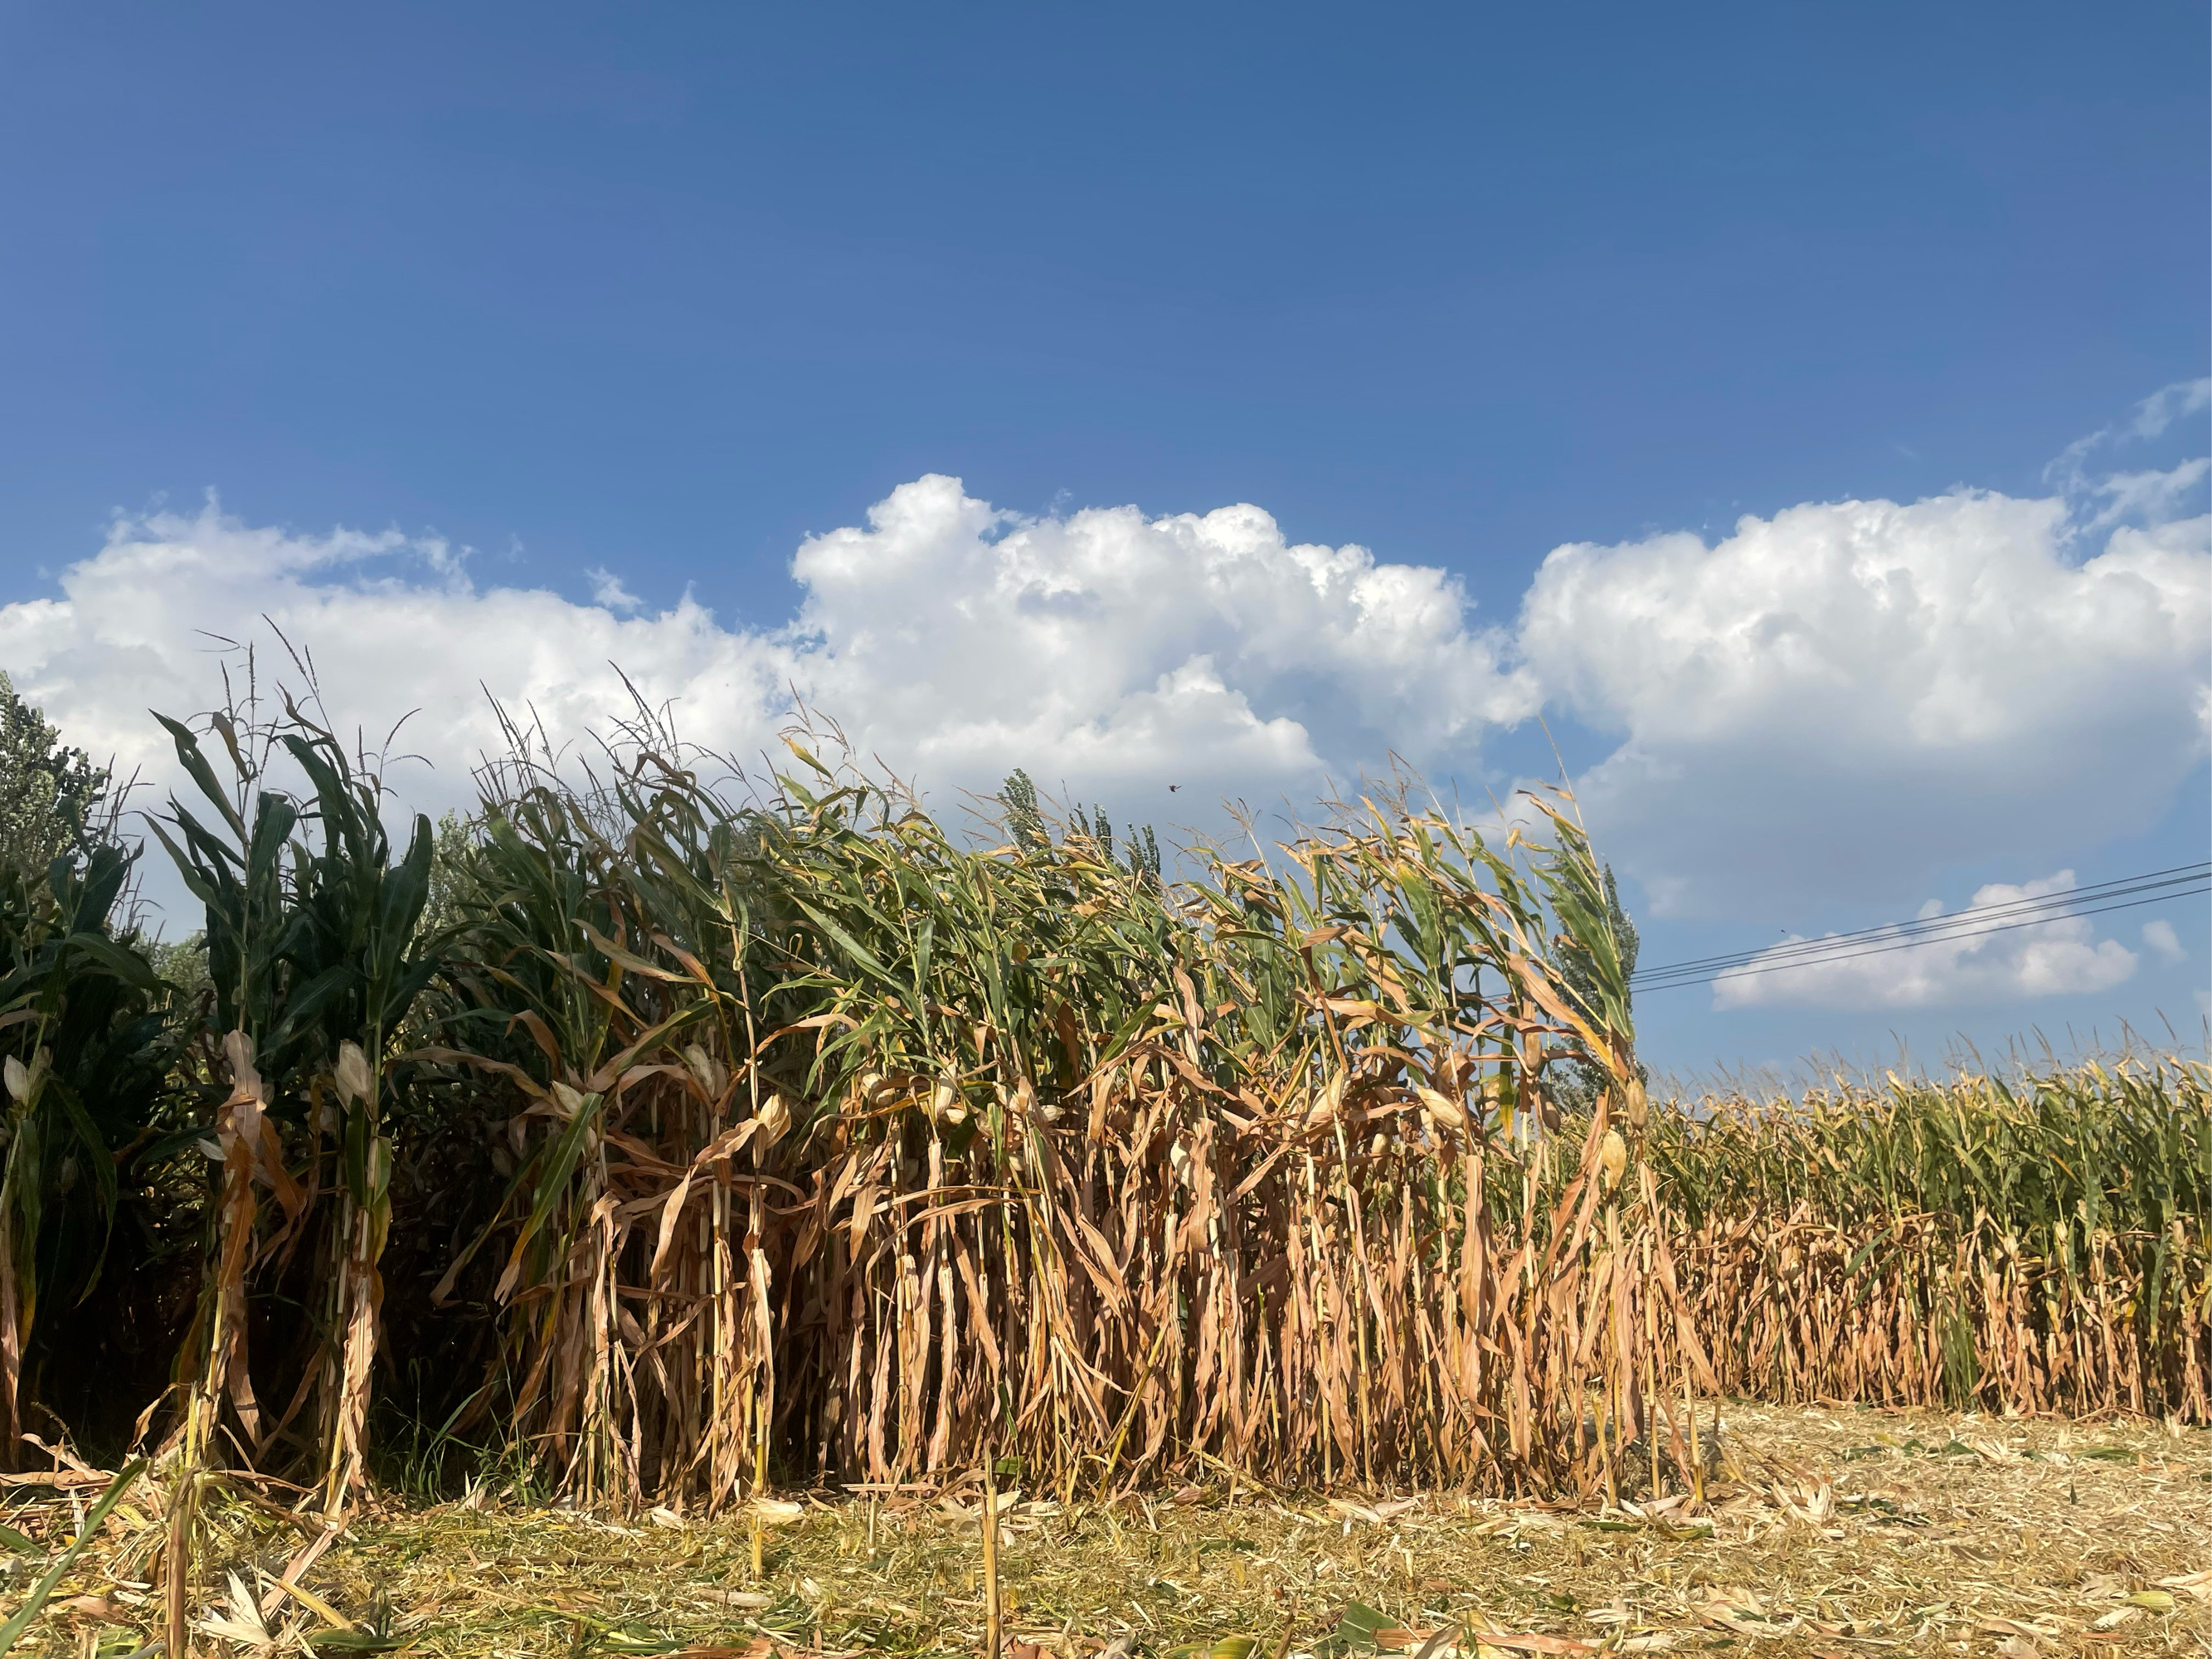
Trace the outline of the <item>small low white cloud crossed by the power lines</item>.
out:
[[[2020,887],[1991,883],[1975,891],[1960,916],[1971,920],[1978,909],[2064,894],[2073,885],[2070,869]],[[1942,914],[1942,905],[1929,900],[1920,909],[1920,920]],[[2135,973],[2135,951],[2117,940],[2097,940],[2095,925],[2086,916],[2059,916],[1980,936],[1962,920],[1958,933],[1924,942],[1909,942],[1911,938],[1898,929],[1880,929],[1838,947],[1829,960],[1796,960],[1796,964],[1790,951],[1805,940],[1792,938],[1752,958],[1741,973],[1717,980],[1712,1004],[1717,1009],[1951,1009],[2110,991]]]

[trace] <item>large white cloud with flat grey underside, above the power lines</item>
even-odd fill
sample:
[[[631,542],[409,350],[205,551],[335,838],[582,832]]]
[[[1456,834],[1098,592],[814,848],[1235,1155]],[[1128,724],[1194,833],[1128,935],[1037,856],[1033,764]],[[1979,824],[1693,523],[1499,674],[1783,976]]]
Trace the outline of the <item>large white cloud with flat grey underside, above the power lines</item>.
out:
[[[1522,608],[1544,692],[1619,748],[1579,783],[1661,911],[2059,858],[2205,754],[2208,520],[2077,557],[2064,500],[1958,491],[1562,546]]]

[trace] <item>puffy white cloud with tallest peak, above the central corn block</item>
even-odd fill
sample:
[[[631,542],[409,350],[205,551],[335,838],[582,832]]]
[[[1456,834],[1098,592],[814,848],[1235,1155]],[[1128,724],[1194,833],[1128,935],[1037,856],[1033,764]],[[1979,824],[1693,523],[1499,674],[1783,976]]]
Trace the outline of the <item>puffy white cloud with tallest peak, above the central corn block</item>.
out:
[[[792,571],[810,701],[925,779],[1296,787],[1535,710],[1449,575],[1294,546],[1256,507],[1020,520],[922,478]]]

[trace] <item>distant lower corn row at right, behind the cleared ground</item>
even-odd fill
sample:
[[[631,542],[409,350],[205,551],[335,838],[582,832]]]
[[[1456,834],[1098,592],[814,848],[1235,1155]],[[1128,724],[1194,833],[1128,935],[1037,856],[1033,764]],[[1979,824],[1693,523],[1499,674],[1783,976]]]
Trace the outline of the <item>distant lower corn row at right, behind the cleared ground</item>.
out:
[[[1705,1099],[1646,1146],[1734,1394],[2212,1420],[2201,1062]]]

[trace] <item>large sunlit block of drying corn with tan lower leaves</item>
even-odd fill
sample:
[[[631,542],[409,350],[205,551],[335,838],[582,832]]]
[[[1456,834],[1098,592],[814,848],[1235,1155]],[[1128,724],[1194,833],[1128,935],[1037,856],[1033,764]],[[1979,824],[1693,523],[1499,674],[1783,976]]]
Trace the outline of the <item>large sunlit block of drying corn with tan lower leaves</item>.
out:
[[[520,1106],[498,1294],[575,1491],[723,1502],[770,1447],[1613,1480],[1655,1398],[1621,1141],[1502,1133],[1628,1055],[1544,885],[1380,805],[1164,889],[1097,825],[962,847],[801,759],[745,812],[650,754],[491,803],[478,995],[538,1048],[478,1055]]]

